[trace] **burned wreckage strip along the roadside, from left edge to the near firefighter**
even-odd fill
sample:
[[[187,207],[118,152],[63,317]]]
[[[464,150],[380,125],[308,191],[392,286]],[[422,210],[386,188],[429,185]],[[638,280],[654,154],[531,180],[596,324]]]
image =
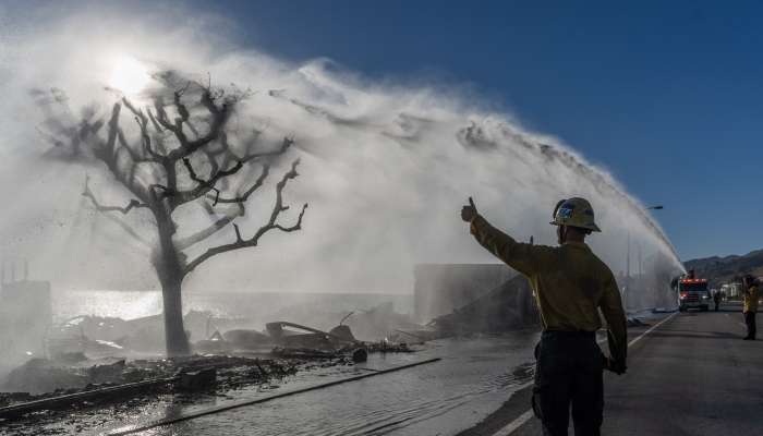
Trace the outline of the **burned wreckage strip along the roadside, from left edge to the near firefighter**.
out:
[[[164,347],[160,315],[70,318],[48,329],[40,356],[8,374],[0,387],[0,421],[21,424],[31,412],[162,392],[226,391],[300,371],[359,364],[370,353],[413,352],[429,340],[536,327],[526,280],[516,274],[494,279],[497,286],[472,287],[465,302],[428,324],[417,323],[415,314],[395,312],[391,303],[346,313],[339,324],[335,318],[334,327],[324,329],[275,320],[258,330],[251,328],[251,320],[191,311],[184,316],[186,334],[203,339],[191,341],[196,354],[189,358],[157,358]]]

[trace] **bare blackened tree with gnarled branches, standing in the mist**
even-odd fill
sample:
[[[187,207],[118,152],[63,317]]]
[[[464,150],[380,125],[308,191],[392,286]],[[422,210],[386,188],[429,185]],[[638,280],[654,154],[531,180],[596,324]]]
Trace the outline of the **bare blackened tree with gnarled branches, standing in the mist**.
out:
[[[271,230],[300,230],[307,204],[295,222],[283,226],[283,189],[298,177],[299,159],[276,183],[276,198],[267,222],[252,234],[244,234],[234,220],[246,214],[247,201],[263,186],[274,159],[284,155],[293,141],[264,146],[261,131],[242,133],[230,121],[240,102],[250,95],[233,88],[226,92],[183,78],[175,72],[156,76],[159,88],[143,106],[125,97],[111,108],[110,116],[97,117],[93,109],[75,117],[63,93],[36,92],[47,114],[40,132],[56,145],[53,154],[73,160],[102,162],[117,183],[130,193],[124,206],[102,204],[85,179],[83,195],[100,213],[109,214],[130,235],[146,241],[145,234],[122,218],[145,210],[150,217],[150,263],[164,298],[165,335],[168,356],[186,355],[190,344],[183,328],[182,284],[185,277],[218,254],[256,246]],[[134,135],[121,126],[125,116],[133,118]],[[133,140],[130,137],[134,136]],[[258,171],[257,171],[258,170]],[[178,235],[173,218],[182,206],[203,206],[209,217],[206,228],[186,237]],[[197,244],[232,227],[231,241],[198,250]],[[217,239],[216,239],[217,240]],[[204,245],[204,244],[201,244]],[[194,257],[186,254],[196,249]]]

